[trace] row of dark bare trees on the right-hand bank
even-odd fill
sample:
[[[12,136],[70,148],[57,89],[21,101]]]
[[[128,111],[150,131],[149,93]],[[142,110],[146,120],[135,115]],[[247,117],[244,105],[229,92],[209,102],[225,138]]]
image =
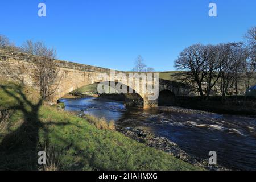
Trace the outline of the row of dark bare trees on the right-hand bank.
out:
[[[235,89],[247,78],[246,88],[251,85],[256,71],[256,27],[245,35],[246,43],[233,42],[218,45],[195,44],[185,48],[175,60],[175,68],[183,71],[183,82],[191,84],[201,97],[209,97],[213,89],[222,97]]]

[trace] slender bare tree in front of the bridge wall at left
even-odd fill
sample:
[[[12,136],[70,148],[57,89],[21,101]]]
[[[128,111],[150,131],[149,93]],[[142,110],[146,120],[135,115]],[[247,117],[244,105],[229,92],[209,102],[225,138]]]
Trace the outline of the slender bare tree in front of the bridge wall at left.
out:
[[[32,64],[33,69],[27,73],[39,86],[40,94],[45,100],[56,91],[59,85],[53,85],[60,70],[55,61],[56,51],[48,49],[43,42],[32,42],[32,40],[24,42],[21,50],[35,56],[35,62]]]

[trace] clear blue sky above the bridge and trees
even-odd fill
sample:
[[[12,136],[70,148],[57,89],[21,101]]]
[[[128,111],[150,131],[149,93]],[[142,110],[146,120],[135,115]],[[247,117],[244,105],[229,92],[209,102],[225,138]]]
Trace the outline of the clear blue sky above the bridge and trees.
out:
[[[38,4],[47,16],[39,18]],[[217,17],[208,16],[210,2]],[[157,71],[195,43],[243,40],[256,26],[255,0],[31,0],[0,2],[0,34],[21,45],[43,40],[59,59],[131,70],[137,55]]]

